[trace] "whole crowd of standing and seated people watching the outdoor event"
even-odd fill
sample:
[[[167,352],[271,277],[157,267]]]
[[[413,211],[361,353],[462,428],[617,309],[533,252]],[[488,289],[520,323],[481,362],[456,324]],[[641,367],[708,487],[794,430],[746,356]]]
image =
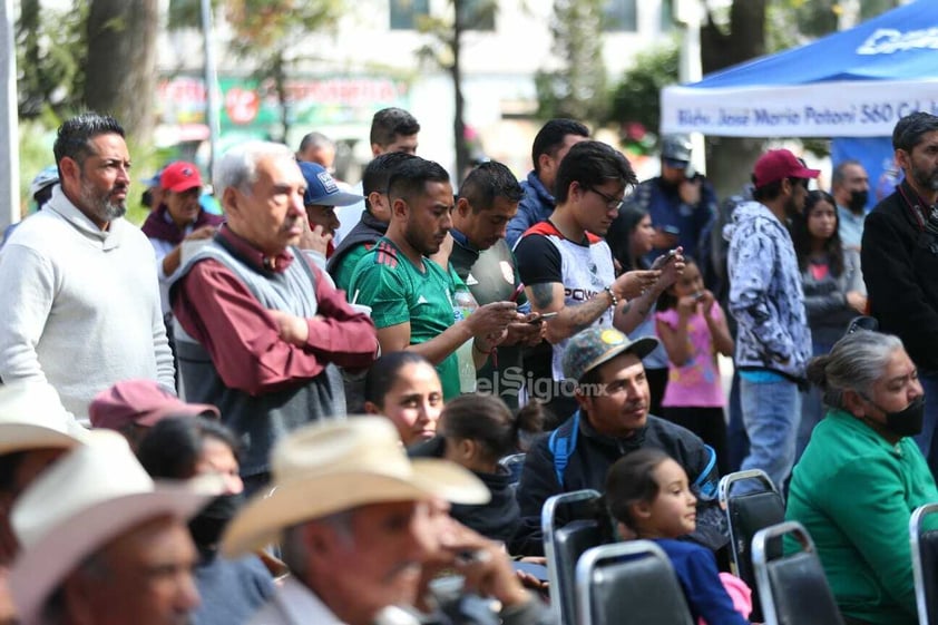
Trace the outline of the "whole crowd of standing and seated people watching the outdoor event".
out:
[[[769,150],[727,216],[687,137],[639,182],[553,119],[526,178],[452,180],[419,131],[378,111],[358,186],[322,134],[235,145],[222,215],[170,163],[138,228],[119,123],[62,124],[0,247],[0,618],[555,624],[541,509],[589,488],[695,619],[746,623],[716,501],[743,468],[808,528],[846,622],[917,623],[938,117],[897,124],[905,179],[868,217],[854,160],[827,193]]]

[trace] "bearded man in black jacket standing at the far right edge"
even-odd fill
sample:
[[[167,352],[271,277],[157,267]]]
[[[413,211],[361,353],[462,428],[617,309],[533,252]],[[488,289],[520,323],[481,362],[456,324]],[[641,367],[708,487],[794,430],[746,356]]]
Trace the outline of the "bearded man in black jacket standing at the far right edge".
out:
[[[928,399],[916,436],[932,476],[938,423],[938,116],[912,113],[892,130],[896,164],[905,179],[867,216],[860,261],[870,314],[896,334],[918,367]]]

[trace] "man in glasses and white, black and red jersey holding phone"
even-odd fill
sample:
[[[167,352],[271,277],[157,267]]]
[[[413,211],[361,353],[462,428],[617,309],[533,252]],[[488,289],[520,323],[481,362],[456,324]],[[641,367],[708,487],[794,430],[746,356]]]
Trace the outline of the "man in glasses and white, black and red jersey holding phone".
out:
[[[557,207],[550,218],[528,228],[515,246],[531,311],[558,313],[545,321],[551,383],[546,389],[538,383],[531,392],[547,402],[548,426],[577,409],[573,381],[560,365],[570,338],[590,326],[633,331],[684,268],[678,250],[667,263],[663,257],[649,271],[616,277],[603,237],[633,184],[635,173],[621,153],[600,141],[577,143],[557,170]]]

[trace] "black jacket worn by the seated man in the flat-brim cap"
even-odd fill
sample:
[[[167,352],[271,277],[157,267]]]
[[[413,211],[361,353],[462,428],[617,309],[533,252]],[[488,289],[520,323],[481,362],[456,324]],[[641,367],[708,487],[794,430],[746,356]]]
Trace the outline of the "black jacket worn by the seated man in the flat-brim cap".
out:
[[[559,428],[559,436],[569,437],[576,416]],[[518,485],[518,504],[521,525],[509,544],[511,554],[544,555],[544,536],[540,530],[540,510],[553,495],[584,488],[605,491],[606,473],[616,460],[642,448],[661,449],[687,471],[697,497],[697,530],[692,535],[697,543],[719,549],[729,543],[725,515],[716,501],[720,475],[712,452],[696,434],[664,419],[648,416],[644,428],[629,438],[612,438],[598,433],[587,419],[579,419],[579,434],[564,470],[563,486],[557,479],[554,453],[549,448],[550,433],[541,434],[525,458],[521,481]]]

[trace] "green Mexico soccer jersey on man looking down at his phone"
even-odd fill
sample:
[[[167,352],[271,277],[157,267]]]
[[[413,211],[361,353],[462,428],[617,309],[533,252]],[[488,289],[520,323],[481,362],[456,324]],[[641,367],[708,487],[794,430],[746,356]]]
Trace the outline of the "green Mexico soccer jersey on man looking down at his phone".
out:
[[[410,322],[410,343],[429,341],[453,324],[452,274],[423,258],[423,270],[388,238],[381,238],[355,266],[349,293],[358,293],[359,304],[371,306],[371,319],[379,330]],[[350,295],[351,296],[351,295]],[[459,395],[459,365],[456,352],[437,365],[443,398]]]

